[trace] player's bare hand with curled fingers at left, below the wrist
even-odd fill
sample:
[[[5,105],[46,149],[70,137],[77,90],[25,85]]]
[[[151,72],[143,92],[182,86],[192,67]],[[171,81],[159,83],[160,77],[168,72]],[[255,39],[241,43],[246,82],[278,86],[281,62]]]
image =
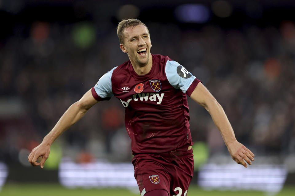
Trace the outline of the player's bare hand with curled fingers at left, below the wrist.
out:
[[[46,159],[48,159],[50,153],[50,145],[41,143],[36,148],[32,150],[30,155],[28,156],[29,163],[33,166],[40,165],[41,168],[44,167]],[[37,159],[39,157],[42,157],[42,160],[40,163],[37,162]]]

